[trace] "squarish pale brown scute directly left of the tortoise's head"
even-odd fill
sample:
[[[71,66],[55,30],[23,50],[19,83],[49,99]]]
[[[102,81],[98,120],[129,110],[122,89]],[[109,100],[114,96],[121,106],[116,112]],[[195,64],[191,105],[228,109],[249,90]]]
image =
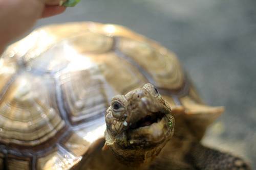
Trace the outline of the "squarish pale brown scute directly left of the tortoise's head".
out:
[[[89,70],[68,72],[59,77],[59,83],[71,124],[104,115],[109,98],[100,75],[91,74]]]

